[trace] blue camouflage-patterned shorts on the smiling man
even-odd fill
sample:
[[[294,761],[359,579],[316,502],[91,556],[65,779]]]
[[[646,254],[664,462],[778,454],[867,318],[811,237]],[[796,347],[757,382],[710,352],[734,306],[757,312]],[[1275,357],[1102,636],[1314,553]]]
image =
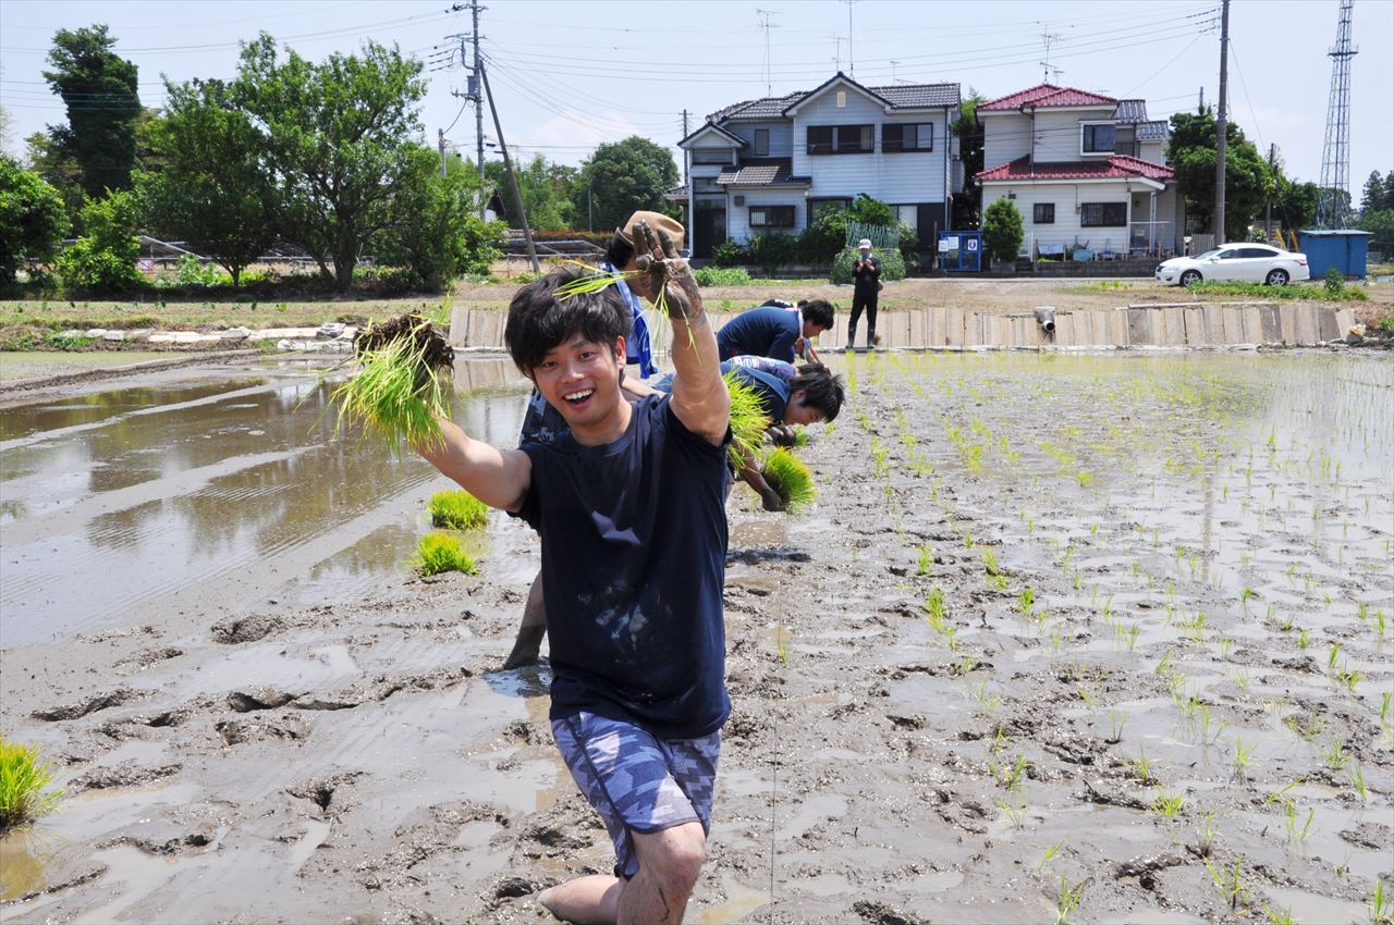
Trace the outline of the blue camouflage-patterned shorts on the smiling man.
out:
[[[710,830],[719,731],[665,741],[633,723],[581,712],[552,720],[552,736],[581,794],[605,821],[616,876],[638,873],[630,832],[648,834],[687,822]]]

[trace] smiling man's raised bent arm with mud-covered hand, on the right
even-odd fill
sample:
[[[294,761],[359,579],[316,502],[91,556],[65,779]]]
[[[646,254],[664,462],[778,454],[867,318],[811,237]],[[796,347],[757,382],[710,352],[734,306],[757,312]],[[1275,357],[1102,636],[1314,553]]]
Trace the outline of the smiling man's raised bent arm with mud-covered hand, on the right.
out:
[[[730,396],[721,378],[717,333],[703,308],[697,280],[662,228],[655,237],[648,223],[640,221],[634,238],[637,266],[654,277],[650,291],[664,294],[673,323],[673,414],[693,433],[721,443],[730,419]]]

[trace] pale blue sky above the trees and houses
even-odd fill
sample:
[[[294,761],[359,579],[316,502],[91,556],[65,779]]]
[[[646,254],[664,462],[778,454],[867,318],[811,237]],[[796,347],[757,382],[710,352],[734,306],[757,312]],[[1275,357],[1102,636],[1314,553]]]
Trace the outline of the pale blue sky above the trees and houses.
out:
[[[473,157],[474,110],[461,111],[459,40],[468,13],[450,0],[0,0],[0,104],[6,149],[61,123],[43,82],[59,28],[106,22],[116,50],[139,65],[141,100],[164,99],[162,74],[230,77],[237,43],[270,32],[302,56],[354,52],[368,38],[432,61],[422,106],[427,141],[446,130]],[[959,82],[987,98],[1051,82],[1144,98],[1153,118],[1192,109],[1218,88],[1218,0],[489,0],[485,60],[505,137],[520,155],[579,163],[597,143],[640,134],[672,145],[728,103],[810,89],[836,70],[863,84]],[[1234,0],[1230,113],[1289,176],[1319,180],[1337,0]],[[760,11],[768,15],[761,17]],[[771,28],[760,28],[761,18]],[[1394,3],[1356,0],[1351,192],[1394,169]],[[1054,36],[1046,39],[1043,36]],[[768,38],[768,57],[767,57]],[[767,82],[768,81],[768,82]],[[485,110],[485,134],[493,128]],[[991,166],[991,164],[990,164]]]

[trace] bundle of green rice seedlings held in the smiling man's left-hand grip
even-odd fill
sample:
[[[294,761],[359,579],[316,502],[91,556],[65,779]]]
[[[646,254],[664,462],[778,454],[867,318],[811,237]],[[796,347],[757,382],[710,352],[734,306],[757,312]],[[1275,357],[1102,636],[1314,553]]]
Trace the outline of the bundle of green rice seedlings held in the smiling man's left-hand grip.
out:
[[[401,444],[441,439],[436,417],[450,415],[454,350],[432,319],[407,312],[369,325],[354,340],[358,373],[333,391],[339,428],[355,422],[383,437],[395,453]]]

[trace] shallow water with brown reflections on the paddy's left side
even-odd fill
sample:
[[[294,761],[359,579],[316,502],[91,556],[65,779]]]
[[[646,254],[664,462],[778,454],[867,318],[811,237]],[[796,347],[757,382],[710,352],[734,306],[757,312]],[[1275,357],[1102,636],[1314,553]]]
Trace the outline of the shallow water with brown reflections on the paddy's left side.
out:
[[[457,371],[454,419],[514,444],[526,380],[500,359]],[[287,581],[312,593],[404,570],[421,502],[446,482],[335,435],[336,380],[294,362],[180,375],[0,415],[6,645],[158,620],[219,589],[237,606]]]

